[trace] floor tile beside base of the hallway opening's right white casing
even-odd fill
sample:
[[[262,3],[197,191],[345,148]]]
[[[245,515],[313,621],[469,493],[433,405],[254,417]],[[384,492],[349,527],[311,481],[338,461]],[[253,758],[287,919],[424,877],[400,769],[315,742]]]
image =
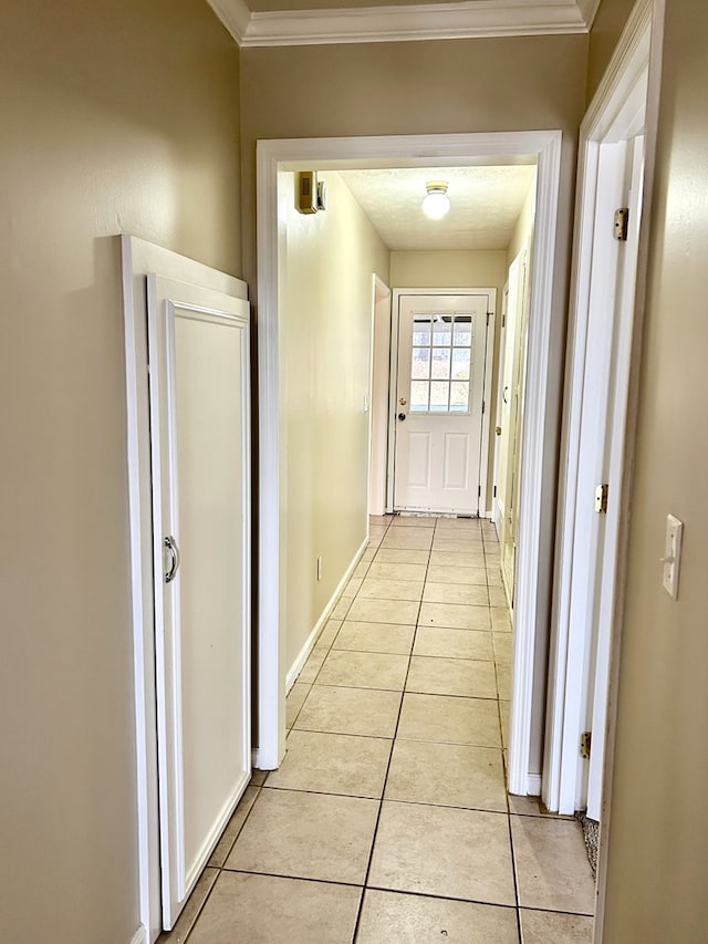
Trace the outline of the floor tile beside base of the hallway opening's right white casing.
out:
[[[384,797],[506,812],[501,750],[399,738],[394,745]]]

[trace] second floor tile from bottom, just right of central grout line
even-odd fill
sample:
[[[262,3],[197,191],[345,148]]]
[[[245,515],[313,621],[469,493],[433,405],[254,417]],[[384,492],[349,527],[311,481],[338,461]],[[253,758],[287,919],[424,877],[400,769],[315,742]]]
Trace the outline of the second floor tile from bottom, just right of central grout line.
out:
[[[507,816],[385,800],[368,884],[513,905]]]

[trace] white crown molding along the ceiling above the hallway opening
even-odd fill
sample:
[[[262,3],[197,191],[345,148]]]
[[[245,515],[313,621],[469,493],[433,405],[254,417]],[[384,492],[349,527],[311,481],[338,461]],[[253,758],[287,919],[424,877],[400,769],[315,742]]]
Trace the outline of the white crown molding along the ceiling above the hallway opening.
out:
[[[241,46],[586,33],[600,0],[461,0],[457,3],[251,13],[243,0],[209,0]]]

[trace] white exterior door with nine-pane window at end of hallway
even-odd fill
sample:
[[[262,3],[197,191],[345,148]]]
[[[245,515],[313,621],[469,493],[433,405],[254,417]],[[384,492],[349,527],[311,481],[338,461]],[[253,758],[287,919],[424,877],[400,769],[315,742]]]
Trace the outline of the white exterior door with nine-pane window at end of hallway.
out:
[[[479,514],[492,294],[398,294],[395,511]]]

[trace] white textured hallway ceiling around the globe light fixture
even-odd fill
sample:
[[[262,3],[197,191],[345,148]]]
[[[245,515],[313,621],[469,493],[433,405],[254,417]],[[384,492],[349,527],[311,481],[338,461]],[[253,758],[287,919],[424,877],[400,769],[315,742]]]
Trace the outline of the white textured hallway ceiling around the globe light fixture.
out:
[[[392,250],[506,249],[535,166],[340,170]],[[441,220],[420,209],[428,180],[447,180],[451,209]]]

